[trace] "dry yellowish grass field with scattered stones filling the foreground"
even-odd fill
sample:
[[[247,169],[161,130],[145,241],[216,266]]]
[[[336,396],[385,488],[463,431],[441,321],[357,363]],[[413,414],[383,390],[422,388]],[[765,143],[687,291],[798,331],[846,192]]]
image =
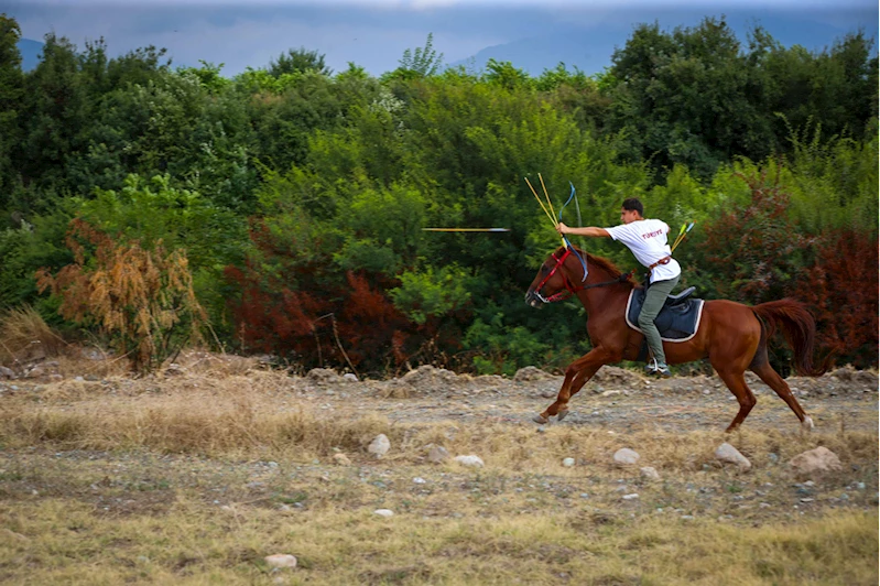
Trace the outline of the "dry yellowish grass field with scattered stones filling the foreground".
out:
[[[323,409],[326,389],[253,359],[194,352],[178,363],[0,397],[0,580],[878,582],[873,433],[403,424],[369,409],[396,399],[349,395]],[[366,452],[378,433],[393,446],[381,460]],[[721,441],[754,469],[718,465]],[[430,444],[479,454],[486,467],[428,464]],[[844,470],[804,499],[771,454],[784,463],[816,445]],[[612,465],[622,446],[662,480]],[[354,464],[335,464],[337,452]],[[576,465],[562,467],[564,457]],[[374,516],[379,508],[395,516]],[[273,572],[263,557],[274,553],[296,555],[300,567]]]

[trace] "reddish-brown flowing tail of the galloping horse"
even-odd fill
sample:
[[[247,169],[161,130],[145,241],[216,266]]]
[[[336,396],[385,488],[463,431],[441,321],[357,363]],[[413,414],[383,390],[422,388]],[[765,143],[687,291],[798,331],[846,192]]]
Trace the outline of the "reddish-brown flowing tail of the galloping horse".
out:
[[[775,330],[782,330],[785,340],[794,350],[794,371],[798,375],[821,377],[830,365],[832,356],[826,356],[822,365],[813,365],[813,349],[816,344],[816,322],[806,305],[800,301],[784,299],[770,301],[752,307],[764,328],[764,339],[770,340]]]

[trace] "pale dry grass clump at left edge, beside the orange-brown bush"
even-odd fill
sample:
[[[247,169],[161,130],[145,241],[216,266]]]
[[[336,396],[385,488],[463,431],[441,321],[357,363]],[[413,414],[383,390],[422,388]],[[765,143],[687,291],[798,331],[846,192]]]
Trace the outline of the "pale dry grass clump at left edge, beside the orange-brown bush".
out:
[[[56,357],[67,343],[30,306],[0,314],[0,363],[12,365],[34,357]]]

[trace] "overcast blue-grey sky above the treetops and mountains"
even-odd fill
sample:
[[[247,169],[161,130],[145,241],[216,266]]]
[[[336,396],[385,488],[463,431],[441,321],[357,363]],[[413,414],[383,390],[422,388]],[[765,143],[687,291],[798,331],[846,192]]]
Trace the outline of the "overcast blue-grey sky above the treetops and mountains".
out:
[[[403,51],[421,47],[428,33],[434,48],[453,63],[481,48],[541,36],[563,26],[620,29],[622,42],[639,22],[661,24],[754,10],[764,0],[734,3],[681,0],[324,0],[243,2],[233,0],[0,0],[0,12],[18,20],[25,39],[42,41],[47,32],[68,37],[83,47],[86,40],[104,37],[110,54],[137,47],[166,47],[174,64],[199,59],[225,63],[235,75],[247,66],[262,67],[287,48],[316,50],[334,70],[348,62],[373,75],[396,67]],[[772,2],[801,17],[829,21],[852,30],[877,23],[874,0],[813,0]],[[692,24],[687,22],[686,24]],[[877,29],[867,31],[877,35]]]

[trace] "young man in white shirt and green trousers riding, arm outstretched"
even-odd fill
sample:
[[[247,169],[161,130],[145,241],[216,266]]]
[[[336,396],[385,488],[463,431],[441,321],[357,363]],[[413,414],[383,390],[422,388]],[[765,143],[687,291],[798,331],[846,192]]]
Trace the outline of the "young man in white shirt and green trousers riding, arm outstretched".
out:
[[[639,314],[639,327],[651,348],[653,362],[645,367],[649,375],[669,377],[670,367],[666,366],[666,355],[663,351],[663,340],[660,338],[654,319],[682,275],[682,268],[672,258],[666,234],[670,227],[659,219],[645,219],[644,206],[635,198],[623,200],[620,210],[620,226],[611,228],[569,228],[563,223],[556,225],[561,235],[571,234],[588,237],[610,237],[619,240],[635,256],[635,260],[648,268],[650,282],[648,285],[642,311]]]

